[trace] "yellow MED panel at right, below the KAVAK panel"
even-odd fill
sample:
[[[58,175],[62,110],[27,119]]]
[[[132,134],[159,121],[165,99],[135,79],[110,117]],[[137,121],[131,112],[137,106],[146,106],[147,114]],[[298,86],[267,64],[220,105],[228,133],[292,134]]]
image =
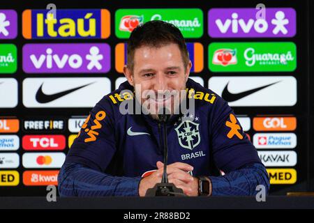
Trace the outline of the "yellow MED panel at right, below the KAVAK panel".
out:
[[[294,184],[297,182],[295,169],[267,169],[271,184]]]

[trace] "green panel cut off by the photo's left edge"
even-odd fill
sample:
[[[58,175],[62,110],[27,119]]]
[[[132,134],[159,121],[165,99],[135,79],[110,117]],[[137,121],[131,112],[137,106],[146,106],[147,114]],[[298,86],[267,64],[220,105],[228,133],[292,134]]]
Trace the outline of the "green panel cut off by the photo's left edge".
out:
[[[13,44],[0,44],[0,74],[17,70],[17,49]]]

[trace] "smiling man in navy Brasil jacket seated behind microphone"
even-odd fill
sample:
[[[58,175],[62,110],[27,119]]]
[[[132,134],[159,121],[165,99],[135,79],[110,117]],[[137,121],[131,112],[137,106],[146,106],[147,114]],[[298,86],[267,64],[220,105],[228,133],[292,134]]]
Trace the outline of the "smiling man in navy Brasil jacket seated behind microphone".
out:
[[[69,150],[58,178],[61,196],[142,197],[160,183],[160,107],[171,113],[168,179],[184,194],[254,195],[257,185],[269,191],[267,171],[227,102],[188,78],[192,63],[177,27],[161,21],[137,26],[127,56],[128,82],[97,103]],[[182,112],[187,101],[192,109]],[[132,113],[133,102],[140,114]]]

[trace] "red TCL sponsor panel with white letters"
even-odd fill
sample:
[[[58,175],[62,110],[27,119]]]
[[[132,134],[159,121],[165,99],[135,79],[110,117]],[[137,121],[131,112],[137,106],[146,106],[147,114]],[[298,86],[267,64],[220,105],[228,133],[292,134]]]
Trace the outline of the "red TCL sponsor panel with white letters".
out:
[[[66,148],[66,137],[58,134],[25,135],[22,139],[24,150],[53,150],[60,151]]]

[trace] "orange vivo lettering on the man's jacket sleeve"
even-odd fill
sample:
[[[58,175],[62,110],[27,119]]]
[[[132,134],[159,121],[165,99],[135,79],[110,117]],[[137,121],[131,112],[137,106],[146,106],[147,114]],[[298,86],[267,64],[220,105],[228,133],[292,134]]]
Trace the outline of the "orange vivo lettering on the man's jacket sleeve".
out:
[[[106,117],[106,113],[104,111],[99,111],[97,112],[95,119],[94,119],[94,125],[91,125],[91,128],[87,128],[87,123],[89,122],[89,118],[91,118],[91,115],[89,115],[82,125],[82,130],[84,132],[87,132],[87,135],[89,138],[84,139],[84,142],[89,142],[89,141],[96,141],[99,132],[96,132],[95,130],[100,129],[103,125],[100,124],[100,121],[103,121],[103,119]],[[80,132],[79,132],[80,135]]]

